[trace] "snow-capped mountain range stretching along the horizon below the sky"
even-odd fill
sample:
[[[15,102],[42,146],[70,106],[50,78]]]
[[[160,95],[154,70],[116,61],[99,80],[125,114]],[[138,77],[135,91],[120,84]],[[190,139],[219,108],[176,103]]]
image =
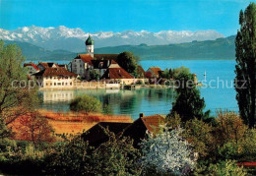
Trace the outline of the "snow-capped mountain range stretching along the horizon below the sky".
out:
[[[121,32],[99,31],[90,33],[95,39],[95,47],[117,46],[117,45],[163,45],[170,43],[191,42],[193,40],[214,40],[224,37],[216,30],[161,30],[151,32],[147,30]],[[4,40],[16,40],[29,42],[48,50],[63,49],[73,52],[85,50],[85,40],[89,32],[83,29],[69,29],[64,26],[57,28],[23,27],[14,30],[0,29],[0,38]]]

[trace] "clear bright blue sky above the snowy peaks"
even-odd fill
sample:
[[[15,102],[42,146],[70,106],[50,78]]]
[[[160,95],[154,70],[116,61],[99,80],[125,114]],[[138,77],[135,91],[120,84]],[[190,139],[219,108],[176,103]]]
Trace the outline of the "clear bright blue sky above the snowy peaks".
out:
[[[58,27],[85,31],[205,30],[235,34],[253,0],[0,0],[0,28]]]

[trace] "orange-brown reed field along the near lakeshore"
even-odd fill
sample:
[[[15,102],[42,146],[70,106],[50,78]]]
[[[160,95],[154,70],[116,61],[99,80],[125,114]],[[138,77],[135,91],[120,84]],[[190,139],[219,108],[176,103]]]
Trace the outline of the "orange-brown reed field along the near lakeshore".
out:
[[[15,132],[14,139],[17,139],[19,133],[24,129],[24,123],[30,115],[18,117],[13,123],[9,125]],[[60,113],[46,110],[38,110],[37,116],[45,118],[49,125],[52,126],[55,134],[79,134],[89,130],[95,126],[98,122],[133,122],[130,116],[125,115],[104,115],[93,113]],[[23,122],[23,125],[21,124]],[[28,127],[32,123],[28,121]],[[27,124],[26,124],[27,126]],[[27,128],[28,129],[28,128]],[[30,130],[30,129],[28,129]],[[17,138],[16,138],[17,137]],[[22,140],[22,139],[17,139]]]

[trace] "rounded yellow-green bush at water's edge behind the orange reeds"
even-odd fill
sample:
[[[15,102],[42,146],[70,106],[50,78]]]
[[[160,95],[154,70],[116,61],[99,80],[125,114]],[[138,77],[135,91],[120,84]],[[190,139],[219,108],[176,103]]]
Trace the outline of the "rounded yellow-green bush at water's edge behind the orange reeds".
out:
[[[82,95],[73,99],[70,103],[70,110],[76,112],[101,112],[102,104],[94,96]]]

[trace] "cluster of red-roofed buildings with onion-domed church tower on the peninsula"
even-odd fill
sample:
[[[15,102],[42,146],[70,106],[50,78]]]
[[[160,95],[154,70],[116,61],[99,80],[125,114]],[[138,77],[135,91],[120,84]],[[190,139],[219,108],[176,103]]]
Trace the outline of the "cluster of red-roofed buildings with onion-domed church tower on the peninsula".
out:
[[[25,63],[29,79],[35,79],[41,88],[74,88],[79,80],[91,81],[91,72],[98,73],[104,83],[131,85],[139,80],[160,77],[160,68],[151,67],[147,72],[138,66],[140,78],[134,78],[116,63],[118,54],[95,54],[94,40],[91,36],[85,42],[86,54],[78,54],[68,65],[39,62]],[[79,80],[78,80],[79,79]]]

